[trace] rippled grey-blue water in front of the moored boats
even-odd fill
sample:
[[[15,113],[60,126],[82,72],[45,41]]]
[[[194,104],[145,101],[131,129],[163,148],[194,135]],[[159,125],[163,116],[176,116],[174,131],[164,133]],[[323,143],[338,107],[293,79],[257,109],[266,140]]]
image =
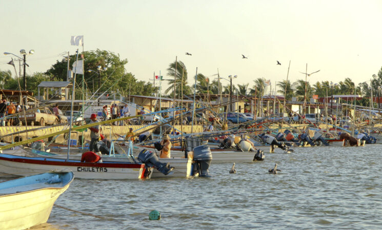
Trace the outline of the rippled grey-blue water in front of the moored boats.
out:
[[[295,148],[211,178],[75,179],[42,229],[382,228],[382,145]],[[268,174],[278,164],[279,174]],[[156,209],[159,221],[149,221]]]

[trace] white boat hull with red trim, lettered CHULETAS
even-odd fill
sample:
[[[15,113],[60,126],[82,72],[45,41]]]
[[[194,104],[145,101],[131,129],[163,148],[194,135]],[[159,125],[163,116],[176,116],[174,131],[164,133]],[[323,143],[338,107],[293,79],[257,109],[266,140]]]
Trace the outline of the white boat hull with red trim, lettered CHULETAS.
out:
[[[150,176],[147,172],[152,170],[141,163],[82,163],[80,160],[9,154],[0,154],[0,166],[0,172],[21,176],[65,169],[73,171],[77,178],[83,179],[142,179]]]

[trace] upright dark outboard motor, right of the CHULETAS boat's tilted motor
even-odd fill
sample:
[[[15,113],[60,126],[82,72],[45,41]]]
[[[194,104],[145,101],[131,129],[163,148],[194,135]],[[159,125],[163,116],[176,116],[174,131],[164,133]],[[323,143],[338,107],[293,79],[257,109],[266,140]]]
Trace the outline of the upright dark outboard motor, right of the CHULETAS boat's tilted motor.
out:
[[[207,145],[201,145],[193,149],[194,158],[193,158],[193,175],[199,173],[199,176],[211,177],[208,174],[208,168],[212,160],[212,153],[210,147]]]

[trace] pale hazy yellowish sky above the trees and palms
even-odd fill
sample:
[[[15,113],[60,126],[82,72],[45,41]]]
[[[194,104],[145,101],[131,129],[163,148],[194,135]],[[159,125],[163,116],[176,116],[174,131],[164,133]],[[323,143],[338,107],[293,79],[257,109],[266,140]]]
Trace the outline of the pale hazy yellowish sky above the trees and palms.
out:
[[[382,66],[382,1],[5,1],[0,0],[0,70],[12,70],[4,52],[31,49],[27,73],[45,72],[76,47],[108,50],[127,59],[139,80],[166,76],[183,61],[211,76],[237,75],[234,84],[259,77],[311,83],[346,77],[369,80]],[[192,56],[185,55],[189,52]],[[242,59],[242,54],[248,59]],[[282,65],[276,65],[276,60]],[[222,84],[227,84],[222,81]],[[272,86],[273,87],[273,86]]]

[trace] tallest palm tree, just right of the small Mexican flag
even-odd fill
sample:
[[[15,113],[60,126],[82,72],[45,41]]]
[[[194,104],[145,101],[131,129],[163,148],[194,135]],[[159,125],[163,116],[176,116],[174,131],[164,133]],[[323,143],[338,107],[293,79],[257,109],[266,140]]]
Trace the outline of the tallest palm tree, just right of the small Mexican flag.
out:
[[[176,96],[179,97],[180,95],[190,95],[191,94],[191,87],[187,85],[187,68],[185,64],[182,61],[175,61],[169,65],[169,68],[167,68],[167,75],[174,78],[175,76],[175,65],[176,65]],[[183,81],[182,81],[183,77]],[[165,94],[169,93],[169,91],[174,90],[174,79],[168,79],[169,81],[169,87],[165,90]],[[180,90],[183,85],[183,92]],[[171,95],[174,96],[174,91],[171,91]]]

